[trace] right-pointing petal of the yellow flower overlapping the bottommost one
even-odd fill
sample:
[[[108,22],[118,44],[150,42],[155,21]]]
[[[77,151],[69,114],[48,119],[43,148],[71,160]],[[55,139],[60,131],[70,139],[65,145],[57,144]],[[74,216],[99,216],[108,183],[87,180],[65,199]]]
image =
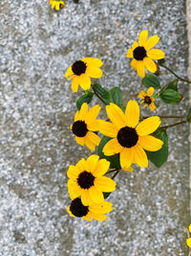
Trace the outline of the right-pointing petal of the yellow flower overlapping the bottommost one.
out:
[[[102,192],[112,192],[116,190],[117,183],[108,176],[100,176],[96,178],[95,185]]]

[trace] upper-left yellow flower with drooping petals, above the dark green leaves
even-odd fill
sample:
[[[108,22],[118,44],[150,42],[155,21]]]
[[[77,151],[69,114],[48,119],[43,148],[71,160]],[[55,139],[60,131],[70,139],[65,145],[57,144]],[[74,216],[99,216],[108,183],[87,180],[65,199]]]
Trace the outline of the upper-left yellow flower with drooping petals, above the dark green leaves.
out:
[[[74,62],[64,75],[67,79],[73,79],[72,89],[77,92],[78,85],[84,90],[89,90],[91,79],[98,79],[102,76],[102,70],[99,68],[103,62],[99,58],[82,58]]]

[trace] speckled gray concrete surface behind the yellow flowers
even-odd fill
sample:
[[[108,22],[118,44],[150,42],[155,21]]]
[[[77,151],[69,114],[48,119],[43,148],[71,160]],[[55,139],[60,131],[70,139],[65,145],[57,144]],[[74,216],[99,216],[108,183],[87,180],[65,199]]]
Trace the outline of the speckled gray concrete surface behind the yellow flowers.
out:
[[[100,82],[119,85],[124,103],[138,100],[141,82],[126,51],[143,29],[159,35],[168,65],[186,77],[185,1],[68,0],[53,12],[48,1],[1,0],[0,24],[0,255],[187,255],[189,126],[169,130],[160,169],[117,176],[107,221],[74,220],[66,171],[90,151],[70,133],[80,93],[63,77],[74,60],[101,58]],[[163,82],[173,79],[161,71]],[[180,105],[159,104],[156,113],[184,114],[188,88],[180,82]]]

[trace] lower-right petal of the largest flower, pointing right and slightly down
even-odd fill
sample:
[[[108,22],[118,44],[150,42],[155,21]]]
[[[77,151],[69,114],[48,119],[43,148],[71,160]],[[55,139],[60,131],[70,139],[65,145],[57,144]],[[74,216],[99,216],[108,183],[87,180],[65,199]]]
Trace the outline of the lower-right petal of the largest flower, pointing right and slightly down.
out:
[[[146,151],[159,151],[163,142],[154,136],[138,136],[138,145]]]

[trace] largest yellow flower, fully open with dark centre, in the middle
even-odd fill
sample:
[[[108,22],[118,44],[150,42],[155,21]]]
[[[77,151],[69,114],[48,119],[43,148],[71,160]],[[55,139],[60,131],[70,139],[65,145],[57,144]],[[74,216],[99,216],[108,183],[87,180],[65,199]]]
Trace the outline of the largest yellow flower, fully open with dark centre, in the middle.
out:
[[[99,131],[113,139],[103,148],[105,155],[119,153],[120,166],[128,171],[131,164],[148,167],[146,151],[159,151],[163,142],[151,135],[159,128],[158,116],[146,118],[138,124],[139,106],[129,101],[125,113],[115,104],[106,105],[107,115],[112,123],[99,120]]]

